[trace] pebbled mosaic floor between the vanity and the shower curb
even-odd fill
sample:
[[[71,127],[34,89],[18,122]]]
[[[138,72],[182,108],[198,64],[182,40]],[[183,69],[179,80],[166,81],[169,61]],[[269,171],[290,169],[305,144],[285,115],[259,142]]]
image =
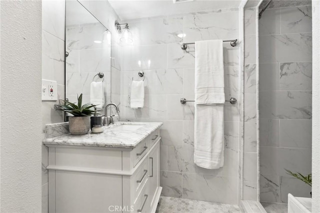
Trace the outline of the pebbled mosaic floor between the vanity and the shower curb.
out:
[[[161,196],[155,213],[240,213],[237,205]]]

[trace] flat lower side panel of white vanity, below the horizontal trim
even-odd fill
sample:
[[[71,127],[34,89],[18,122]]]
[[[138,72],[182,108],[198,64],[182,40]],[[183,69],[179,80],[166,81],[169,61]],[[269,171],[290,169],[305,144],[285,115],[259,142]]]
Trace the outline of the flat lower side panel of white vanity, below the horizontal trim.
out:
[[[122,206],[122,177],[55,171],[56,213],[112,213]]]

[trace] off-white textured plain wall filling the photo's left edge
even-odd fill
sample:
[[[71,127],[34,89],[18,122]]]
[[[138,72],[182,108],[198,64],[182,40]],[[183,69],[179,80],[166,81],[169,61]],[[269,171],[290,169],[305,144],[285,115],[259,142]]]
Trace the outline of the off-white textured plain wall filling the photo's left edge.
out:
[[[0,3],[0,211],[40,212],[41,1]]]

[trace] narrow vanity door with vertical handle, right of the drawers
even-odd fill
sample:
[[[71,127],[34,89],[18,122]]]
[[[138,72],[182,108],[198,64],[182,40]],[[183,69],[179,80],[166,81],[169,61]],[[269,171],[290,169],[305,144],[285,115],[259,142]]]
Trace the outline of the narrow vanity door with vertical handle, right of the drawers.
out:
[[[156,142],[155,147],[148,155],[148,182],[149,182],[149,196],[150,196],[150,210],[154,205],[157,205],[157,191],[160,187],[160,148],[159,141]]]

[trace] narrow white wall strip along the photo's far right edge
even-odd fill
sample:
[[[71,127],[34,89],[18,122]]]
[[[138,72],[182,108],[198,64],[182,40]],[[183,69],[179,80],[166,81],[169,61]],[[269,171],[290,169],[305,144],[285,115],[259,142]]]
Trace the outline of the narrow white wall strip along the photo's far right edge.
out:
[[[320,212],[320,3],[312,0],[312,213]]]

